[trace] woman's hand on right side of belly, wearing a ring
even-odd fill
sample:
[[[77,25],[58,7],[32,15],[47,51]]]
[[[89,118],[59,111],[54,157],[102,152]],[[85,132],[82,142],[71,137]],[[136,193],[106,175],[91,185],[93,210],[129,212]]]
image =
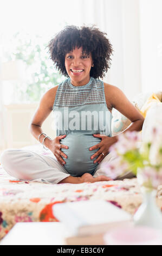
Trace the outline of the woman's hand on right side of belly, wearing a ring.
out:
[[[101,138],[101,142],[89,148],[90,151],[99,148],[99,150],[90,158],[94,159],[95,157],[98,156],[97,159],[95,159],[94,163],[100,163],[104,159],[104,157],[109,153],[109,147],[111,147],[111,145],[114,144],[117,141],[117,139],[116,137],[108,137],[106,135],[100,134],[94,134],[93,136],[96,138]]]

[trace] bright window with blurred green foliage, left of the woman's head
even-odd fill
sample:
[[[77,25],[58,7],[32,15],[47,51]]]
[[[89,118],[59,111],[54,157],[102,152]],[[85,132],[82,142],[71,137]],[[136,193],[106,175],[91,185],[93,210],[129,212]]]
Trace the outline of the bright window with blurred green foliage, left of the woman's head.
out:
[[[38,102],[44,92],[64,79],[49,59],[47,45],[74,20],[81,25],[80,1],[6,0],[0,16],[1,61],[23,64],[23,77],[3,81],[3,103]]]

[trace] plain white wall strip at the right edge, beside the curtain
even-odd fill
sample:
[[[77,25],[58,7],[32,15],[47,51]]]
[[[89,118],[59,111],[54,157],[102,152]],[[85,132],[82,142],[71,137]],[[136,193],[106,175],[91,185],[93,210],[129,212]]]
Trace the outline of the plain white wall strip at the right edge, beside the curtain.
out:
[[[140,0],[142,92],[162,90],[161,13],[161,0]]]

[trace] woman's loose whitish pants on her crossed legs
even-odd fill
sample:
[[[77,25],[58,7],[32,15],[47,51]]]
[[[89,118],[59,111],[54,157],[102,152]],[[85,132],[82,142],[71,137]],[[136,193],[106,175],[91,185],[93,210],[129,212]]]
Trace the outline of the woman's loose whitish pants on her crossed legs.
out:
[[[112,161],[113,159],[114,156],[109,153],[101,163]],[[20,180],[35,180],[57,184],[70,176],[56,160],[52,152],[50,156],[47,156],[37,154],[31,150],[6,149],[0,156],[0,163],[7,173]],[[101,168],[101,163],[96,168],[96,172],[93,175],[94,177],[100,175],[107,176],[105,171]],[[128,172],[124,176],[120,176],[120,179],[132,178],[133,176],[131,172]],[[118,177],[116,179],[118,179]]]

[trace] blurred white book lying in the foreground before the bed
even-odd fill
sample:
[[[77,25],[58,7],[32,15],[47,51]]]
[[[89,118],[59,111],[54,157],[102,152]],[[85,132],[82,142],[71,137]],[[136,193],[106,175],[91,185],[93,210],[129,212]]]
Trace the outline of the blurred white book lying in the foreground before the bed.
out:
[[[55,204],[53,214],[72,235],[99,234],[132,223],[131,214],[104,200]]]

